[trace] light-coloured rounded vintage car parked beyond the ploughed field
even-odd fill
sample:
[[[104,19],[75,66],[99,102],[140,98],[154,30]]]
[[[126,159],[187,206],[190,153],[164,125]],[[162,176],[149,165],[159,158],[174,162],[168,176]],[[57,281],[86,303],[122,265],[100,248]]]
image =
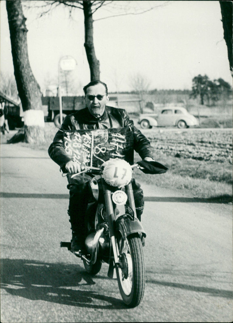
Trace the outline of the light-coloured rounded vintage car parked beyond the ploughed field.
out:
[[[140,114],[138,123],[142,129],[152,127],[173,127],[180,129],[198,126],[198,120],[183,107],[169,107],[160,113]]]

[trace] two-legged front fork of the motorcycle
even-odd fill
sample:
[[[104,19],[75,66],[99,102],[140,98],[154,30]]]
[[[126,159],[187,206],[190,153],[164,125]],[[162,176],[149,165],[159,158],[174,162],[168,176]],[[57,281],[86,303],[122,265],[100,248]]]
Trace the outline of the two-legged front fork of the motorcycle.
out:
[[[119,266],[119,250],[118,250],[118,246],[116,245],[115,232],[113,227],[115,216],[114,216],[114,210],[113,210],[112,200],[111,200],[111,190],[108,190],[104,183],[102,184],[103,184],[103,193],[104,193],[104,200],[105,200],[107,217],[108,217],[109,234],[111,238],[114,262],[116,266]],[[134,215],[136,216],[136,208],[135,208],[135,203],[133,198],[133,190],[132,190],[131,182],[125,186],[125,193],[128,196],[129,205],[132,207]]]

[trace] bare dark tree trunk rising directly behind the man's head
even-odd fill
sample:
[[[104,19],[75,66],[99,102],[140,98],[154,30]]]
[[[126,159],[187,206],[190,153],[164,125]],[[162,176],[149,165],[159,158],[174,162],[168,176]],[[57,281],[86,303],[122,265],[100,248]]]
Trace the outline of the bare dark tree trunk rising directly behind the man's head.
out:
[[[87,60],[90,67],[90,80],[100,79],[100,62],[95,56],[93,42],[93,19],[91,10],[91,1],[83,1],[84,26],[85,26],[85,43],[84,47],[87,54]]]

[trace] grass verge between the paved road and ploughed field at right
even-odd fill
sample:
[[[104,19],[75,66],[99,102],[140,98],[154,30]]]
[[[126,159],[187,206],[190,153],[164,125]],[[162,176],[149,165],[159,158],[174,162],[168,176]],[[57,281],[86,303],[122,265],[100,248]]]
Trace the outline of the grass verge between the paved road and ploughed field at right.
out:
[[[228,196],[232,199],[232,165],[180,159],[157,151],[154,158],[167,166],[168,171],[164,174],[150,175],[136,170],[134,177],[138,182],[185,190],[197,198]],[[138,154],[135,154],[134,160],[140,160]]]

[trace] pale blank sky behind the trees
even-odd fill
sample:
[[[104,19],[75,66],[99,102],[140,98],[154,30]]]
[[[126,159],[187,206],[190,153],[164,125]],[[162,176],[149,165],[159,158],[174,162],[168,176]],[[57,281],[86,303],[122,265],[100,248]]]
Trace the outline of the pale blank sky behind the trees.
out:
[[[164,3],[130,1],[135,8]],[[93,18],[111,14],[106,6]],[[75,58],[75,81],[86,85],[90,70],[83,46],[83,11],[76,10],[73,19],[61,7],[41,18],[35,8],[24,10],[24,15],[29,62],[41,89],[46,78],[58,79],[63,56]],[[192,78],[198,74],[232,84],[218,1],[167,1],[140,15],[97,20],[94,46],[101,80],[110,92],[116,91],[116,82],[119,91],[132,90],[130,79],[137,73],[149,82],[150,89],[191,89]],[[0,2],[0,69],[14,73],[5,1]]]

